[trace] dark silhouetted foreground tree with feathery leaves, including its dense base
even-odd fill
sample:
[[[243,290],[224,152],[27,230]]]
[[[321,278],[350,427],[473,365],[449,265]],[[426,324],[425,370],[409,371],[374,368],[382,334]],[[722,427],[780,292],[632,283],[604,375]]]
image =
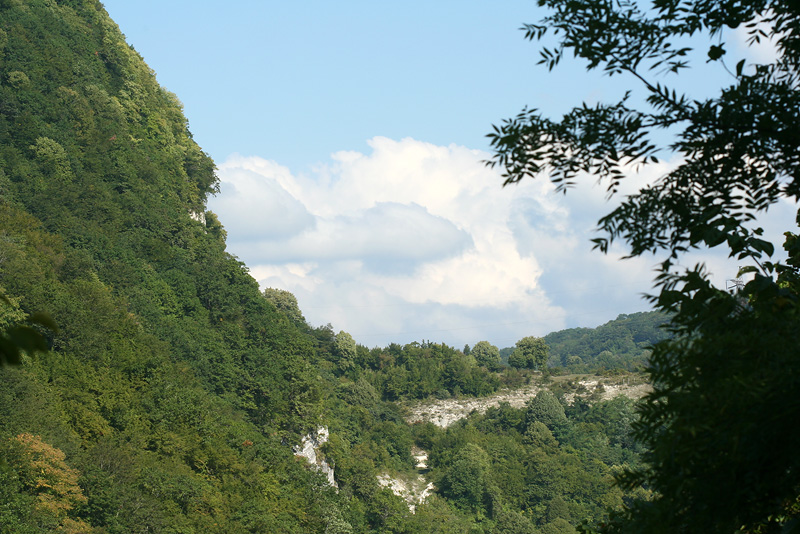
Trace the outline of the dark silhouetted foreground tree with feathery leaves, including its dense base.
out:
[[[490,165],[505,183],[548,175],[565,191],[583,175],[617,192],[631,169],[677,161],[626,196],[599,221],[595,247],[615,240],[630,256],[661,255],[653,303],[672,315],[674,337],[655,345],[654,391],[640,408],[636,437],[645,466],[620,481],[646,483],[649,503],[633,503],[606,527],[624,532],[774,532],[800,521],[800,240],[786,233],[788,259],[758,216],[800,198],[800,9],[795,2],[655,0],[562,2],[525,25],[528,39],[552,33],[541,51],[552,69],[569,52],[589,69],[624,75],[644,93],[580,105],[552,120],[536,110],[495,126]],[[726,33],[771,41],[771,62],[729,68]],[[658,76],[691,65],[692,43],[713,39],[701,68],[721,66],[730,85],[710,98],[671,89]],[[691,43],[687,44],[687,40]],[[642,104],[638,104],[642,102]],[[672,136],[670,138],[670,136]],[[664,141],[666,139],[666,141]],[[678,267],[692,249],[720,247],[753,273],[731,295],[702,265]]]

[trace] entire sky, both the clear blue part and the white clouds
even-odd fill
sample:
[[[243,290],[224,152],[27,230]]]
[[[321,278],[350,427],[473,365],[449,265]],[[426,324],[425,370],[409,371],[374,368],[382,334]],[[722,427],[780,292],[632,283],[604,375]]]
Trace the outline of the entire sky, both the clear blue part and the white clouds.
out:
[[[656,259],[591,250],[616,202],[604,187],[504,188],[483,163],[492,124],[525,106],[555,118],[633,84],[575,61],[538,66],[519,30],[544,15],[535,2],[103,4],[216,162],[208,207],[228,250],[262,288],[291,291],[312,326],[368,347],[503,348],[649,309]],[[700,62],[680,83],[703,96],[727,76]],[[623,193],[677,163],[631,171]],[[778,206],[768,234],[792,217]],[[689,261],[722,285],[736,274],[719,254]]]

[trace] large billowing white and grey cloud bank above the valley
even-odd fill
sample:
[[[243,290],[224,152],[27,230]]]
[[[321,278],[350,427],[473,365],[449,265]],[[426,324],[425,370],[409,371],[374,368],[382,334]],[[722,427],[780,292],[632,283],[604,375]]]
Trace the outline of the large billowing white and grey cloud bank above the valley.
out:
[[[307,175],[238,155],[219,167],[209,208],[228,249],[262,287],[294,293],[312,325],[367,346],[504,347],[647,308],[652,262],[591,251],[609,210],[602,188],[503,188],[485,152],[384,137],[369,146]]]

